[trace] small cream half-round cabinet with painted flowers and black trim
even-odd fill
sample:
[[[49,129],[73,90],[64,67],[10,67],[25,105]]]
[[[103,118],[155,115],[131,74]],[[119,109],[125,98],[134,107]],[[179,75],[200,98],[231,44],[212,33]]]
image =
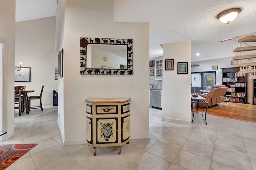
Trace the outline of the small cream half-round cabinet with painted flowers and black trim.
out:
[[[86,140],[94,148],[121,146],[130,141],[130,98],[86,99]]]

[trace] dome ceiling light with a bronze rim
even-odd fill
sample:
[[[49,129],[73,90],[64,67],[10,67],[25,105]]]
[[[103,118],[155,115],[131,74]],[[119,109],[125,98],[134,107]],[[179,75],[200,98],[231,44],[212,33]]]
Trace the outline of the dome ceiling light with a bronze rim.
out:
[[[234,19],[236,19],[240,11],[240,8],[231,8],[228,10],[224,10],[220,12],[220,14],[218,14],[217,18],[218,20],[220,20],[220,22],[229,24]]]

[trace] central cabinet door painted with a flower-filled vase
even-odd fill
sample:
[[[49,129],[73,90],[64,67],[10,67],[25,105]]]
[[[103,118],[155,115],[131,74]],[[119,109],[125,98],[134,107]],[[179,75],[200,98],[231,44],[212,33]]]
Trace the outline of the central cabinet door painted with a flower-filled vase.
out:
[[[118,118],[96,118],[96,144],[118,143]]]

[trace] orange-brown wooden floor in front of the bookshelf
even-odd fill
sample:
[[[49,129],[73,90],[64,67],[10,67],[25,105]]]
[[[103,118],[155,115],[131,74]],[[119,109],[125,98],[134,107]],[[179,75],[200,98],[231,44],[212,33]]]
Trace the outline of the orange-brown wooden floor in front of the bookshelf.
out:
[[[256,123],[256,105],[252,104],[222,102],[218,106],[208,108],[207,114]]]

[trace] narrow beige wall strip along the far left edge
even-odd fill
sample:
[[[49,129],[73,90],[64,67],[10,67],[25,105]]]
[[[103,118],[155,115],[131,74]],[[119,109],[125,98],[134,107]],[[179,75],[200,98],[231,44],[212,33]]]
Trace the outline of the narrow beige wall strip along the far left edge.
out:
[[[14,55],[15,55],[15,0],[0,0],[0,42],[3,53],[3,135],[4,140],[14,134]]]

